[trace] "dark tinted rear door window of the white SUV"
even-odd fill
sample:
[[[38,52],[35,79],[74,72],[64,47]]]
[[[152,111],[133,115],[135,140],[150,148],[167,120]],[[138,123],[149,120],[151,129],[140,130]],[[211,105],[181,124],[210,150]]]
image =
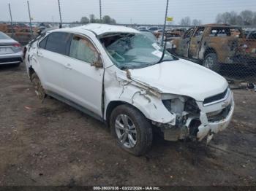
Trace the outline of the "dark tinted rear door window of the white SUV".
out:
[[[45,49],[61,55],[68,55],[71,36],[72,34],[62,32],[49,34]]]

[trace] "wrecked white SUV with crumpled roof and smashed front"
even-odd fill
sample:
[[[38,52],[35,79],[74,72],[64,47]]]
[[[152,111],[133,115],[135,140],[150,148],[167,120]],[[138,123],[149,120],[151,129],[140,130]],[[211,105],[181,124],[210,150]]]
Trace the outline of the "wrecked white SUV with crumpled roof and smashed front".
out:
[[[50,95],[106,122],[123,149],[142,155],[152,128],[165,140],[211,140],[234,110],[227,81],[165,52],[132,28],[89,24],[48,31],[27,46],[39,98]]]

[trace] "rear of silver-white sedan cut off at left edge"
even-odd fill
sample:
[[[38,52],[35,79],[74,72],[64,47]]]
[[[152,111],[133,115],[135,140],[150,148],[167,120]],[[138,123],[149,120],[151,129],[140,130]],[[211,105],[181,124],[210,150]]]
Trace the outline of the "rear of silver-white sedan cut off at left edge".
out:
[[[23,61],[23,50],[20,43],[0,31],[0,65],[19,66]]]

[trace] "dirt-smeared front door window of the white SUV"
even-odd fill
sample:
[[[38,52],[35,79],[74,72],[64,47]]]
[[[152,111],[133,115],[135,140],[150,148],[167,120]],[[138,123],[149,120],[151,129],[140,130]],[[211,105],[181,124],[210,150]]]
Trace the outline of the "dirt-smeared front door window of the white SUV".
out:
[[[86,63],[94,63],[98,59],[98,52],[93,44],[83,36],[73,36],[69,56]]]

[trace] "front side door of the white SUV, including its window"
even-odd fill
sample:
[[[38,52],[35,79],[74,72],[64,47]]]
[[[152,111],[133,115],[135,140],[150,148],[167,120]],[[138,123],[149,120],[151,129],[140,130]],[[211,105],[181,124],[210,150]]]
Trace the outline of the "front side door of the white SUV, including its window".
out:
[[[65,61],[64,88],[69,100],[102,117],[104,69],[91,66],[98,58],[99,51],[92,40],[88,36],[74,34],[69,59]]]

